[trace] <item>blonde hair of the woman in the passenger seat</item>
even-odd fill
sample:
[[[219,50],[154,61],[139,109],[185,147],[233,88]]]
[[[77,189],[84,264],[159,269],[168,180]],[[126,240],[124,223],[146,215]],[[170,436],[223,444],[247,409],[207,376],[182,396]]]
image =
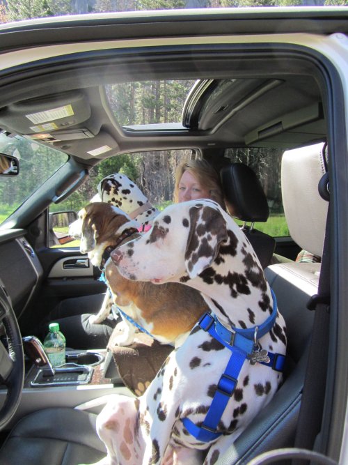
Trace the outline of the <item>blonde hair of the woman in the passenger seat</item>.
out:
[[[182,162],[175,170],[175,203],[179,201],[179,183],[185,171],[189,171],[189,173],[197,179],[202,188],[209,190],[209,199],[216,201],[224,210],[226,210],[219,174],[214,167],[207,162],[207,160],[203,159]]]

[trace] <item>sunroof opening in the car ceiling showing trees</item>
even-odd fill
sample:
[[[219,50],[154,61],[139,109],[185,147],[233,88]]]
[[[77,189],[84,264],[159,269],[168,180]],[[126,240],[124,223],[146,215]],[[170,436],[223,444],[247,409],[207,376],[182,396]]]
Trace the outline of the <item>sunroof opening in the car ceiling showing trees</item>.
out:
[[[163,123],[182,125],[182,108],[195,80],[125,82],[105,86],[113,115],[121,126],[143,130]]]

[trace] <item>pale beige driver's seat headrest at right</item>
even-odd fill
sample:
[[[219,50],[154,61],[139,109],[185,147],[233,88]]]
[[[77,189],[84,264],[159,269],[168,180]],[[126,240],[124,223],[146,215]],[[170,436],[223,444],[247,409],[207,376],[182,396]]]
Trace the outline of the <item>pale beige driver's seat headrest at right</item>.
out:
[[[290,236],[304,250],[322,257],[328,203],[318,191],[325,173],[324,144],[283,153],[281,185]]]

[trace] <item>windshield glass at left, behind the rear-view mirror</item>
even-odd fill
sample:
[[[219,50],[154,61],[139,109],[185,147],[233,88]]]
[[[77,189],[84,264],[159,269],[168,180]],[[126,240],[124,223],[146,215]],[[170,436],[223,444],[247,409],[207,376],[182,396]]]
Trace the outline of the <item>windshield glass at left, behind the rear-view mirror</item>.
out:
[[[68,155],[29,138],[0,134],[0,153],[19,160],[17,176],[0,176],[0,224],[68,160]]]

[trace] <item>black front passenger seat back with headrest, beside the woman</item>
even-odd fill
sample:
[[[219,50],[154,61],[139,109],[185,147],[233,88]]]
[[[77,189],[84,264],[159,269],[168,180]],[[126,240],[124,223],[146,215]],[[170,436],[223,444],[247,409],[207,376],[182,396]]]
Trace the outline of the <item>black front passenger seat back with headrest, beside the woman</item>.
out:
[[[267,198],[258,176],[244,163],[231,163],[221,169],[221,183],[228,211],[244,222],[244,234],[253,245],[262,268],[266,268],[271,263],[276,241],[253,227],[254,222],[266,222],[269,217]],[[247,226],[246,222],[251,225]]]

